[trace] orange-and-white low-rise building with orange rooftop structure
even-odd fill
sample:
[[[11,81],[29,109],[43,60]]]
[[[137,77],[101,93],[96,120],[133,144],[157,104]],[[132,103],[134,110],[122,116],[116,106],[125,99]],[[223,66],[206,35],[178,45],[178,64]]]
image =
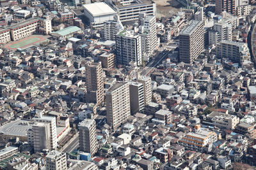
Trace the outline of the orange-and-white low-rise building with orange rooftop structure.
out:
[[[195,126],[195,132],[189,132],[182,139],[179,144],[183,145],[189,150],[202,151],[208,143],[217,141],[217,134],[207,129],[202,129],[200,125]]]

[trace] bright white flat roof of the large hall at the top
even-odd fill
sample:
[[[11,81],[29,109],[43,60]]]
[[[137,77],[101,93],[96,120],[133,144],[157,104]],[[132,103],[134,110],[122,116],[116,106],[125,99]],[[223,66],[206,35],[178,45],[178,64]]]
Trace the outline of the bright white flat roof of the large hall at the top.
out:
[[[93,17],[115,14],[116,11],[113,10],[106,3],[92,3],[92,4],[83,4],[84,10],[88,11]]]

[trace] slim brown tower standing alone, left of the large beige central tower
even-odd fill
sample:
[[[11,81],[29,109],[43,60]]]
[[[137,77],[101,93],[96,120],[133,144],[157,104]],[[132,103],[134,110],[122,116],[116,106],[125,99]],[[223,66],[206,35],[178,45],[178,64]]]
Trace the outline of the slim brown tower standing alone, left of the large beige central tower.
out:
[[[101,62],[86,66],[86,102],[99,105],[104,101],[104,82]]]

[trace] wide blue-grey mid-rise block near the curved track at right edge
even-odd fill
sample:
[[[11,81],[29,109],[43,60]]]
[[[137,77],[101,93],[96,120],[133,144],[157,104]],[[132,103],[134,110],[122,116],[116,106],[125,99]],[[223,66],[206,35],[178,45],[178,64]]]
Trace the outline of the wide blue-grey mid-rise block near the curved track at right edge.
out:
[[[221,43],[216,46],[216,55],[217,57],[228,58],[238,63],[250,60],[250,52],[246,43],[238,43],[235,41],[221,41]]]

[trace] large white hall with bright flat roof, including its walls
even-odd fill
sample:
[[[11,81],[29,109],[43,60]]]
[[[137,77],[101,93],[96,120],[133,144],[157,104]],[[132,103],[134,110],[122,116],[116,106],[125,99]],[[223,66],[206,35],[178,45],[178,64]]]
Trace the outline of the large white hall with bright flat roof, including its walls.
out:
[[[104,27],[104,22],[114,20],[116,15],[116,11],[103,2],[83,4],[83,9],[84,15],[95,29]]]

